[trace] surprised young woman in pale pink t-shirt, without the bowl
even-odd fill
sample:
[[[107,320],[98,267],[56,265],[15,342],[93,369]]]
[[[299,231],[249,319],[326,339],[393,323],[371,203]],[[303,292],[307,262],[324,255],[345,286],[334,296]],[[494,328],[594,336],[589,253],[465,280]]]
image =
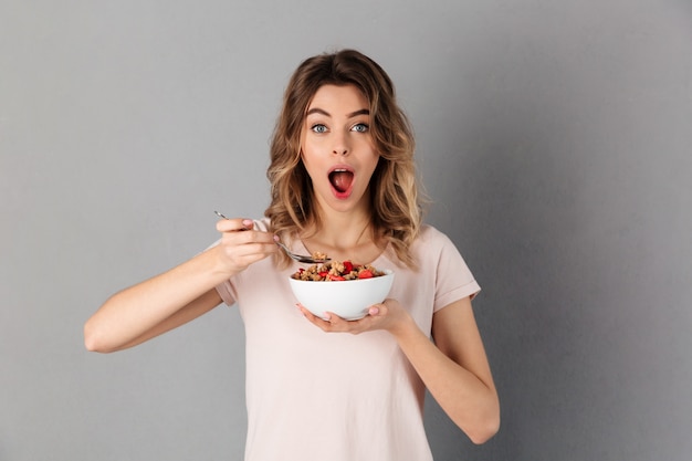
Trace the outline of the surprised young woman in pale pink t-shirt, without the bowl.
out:
[[[247,460],[431,460],[426,388],[472,441],[491,438],[500,405],[471,307],[480,287],[454,244],[421,222],[411,129],[385,71],[353,50],[304,61],[268,177],[263,219],[220,220],[217,244],[112,296],[87,321],[86,347],[132,347],[238,304]],[[289,286],[298,264],[275,239],[392,269],[389,298],[359,321],[312,315]]]

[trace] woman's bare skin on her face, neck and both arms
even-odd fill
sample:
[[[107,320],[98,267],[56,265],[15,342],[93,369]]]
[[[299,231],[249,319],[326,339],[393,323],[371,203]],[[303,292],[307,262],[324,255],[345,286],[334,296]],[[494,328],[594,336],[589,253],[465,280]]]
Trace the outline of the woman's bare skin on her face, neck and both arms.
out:
[[[335,259],[373,261],[385,248],[368,232],[369,180],[379,154],[369,135],[367,107],[354,86],[322,86],[302,130],[302,158],[323,226],[301,237],[308,249]],[[354,172],[347,192],[329,182],[335,166]],[[86,348],[108,353],[133,347],[203,315],[222,301],[217,285],[277,251],[274,235],[252,230],[250,220],[220,220],[217,230],[219,245],[109,297],[84,326]],[[397,300],[374,305],[366,317],[353,322],[333,313],[324,321],[298,308],[327,333],[390,333],[440,407],[473,442],[497,431],[497,392],[469,297],[433,315],[434,343]]]

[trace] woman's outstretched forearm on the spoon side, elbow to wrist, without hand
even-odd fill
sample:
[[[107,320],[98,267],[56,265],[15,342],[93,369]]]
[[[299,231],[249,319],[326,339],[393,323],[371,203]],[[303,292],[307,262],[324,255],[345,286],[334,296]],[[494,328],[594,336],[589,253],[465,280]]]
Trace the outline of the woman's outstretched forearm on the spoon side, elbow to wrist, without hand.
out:
[[[108,352],[136,342],[228,279],[228,274],[216,268],[216,255],[210,250],[114,294],[86,322],[86,347]],[[209,300],[207,296],[206,302]]]

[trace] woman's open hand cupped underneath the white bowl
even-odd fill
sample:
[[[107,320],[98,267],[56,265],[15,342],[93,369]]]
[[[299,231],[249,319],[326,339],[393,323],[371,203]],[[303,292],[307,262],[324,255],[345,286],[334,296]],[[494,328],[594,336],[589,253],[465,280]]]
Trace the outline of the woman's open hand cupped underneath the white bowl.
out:
[[[368,308],[368,314],[357,321],[347,321],[338,315],[326,312],[325,317],[321,318],[303,305],[298,304],[298,308],[311,323],[318,326],[327,333],[350,333],[354,335],[371,332],[375,329],[386,329],[394,332],[406,324],[407,318],[410,318],[408,312],[401,307],[396,300],[385,300],[381,304],[374,304]]]

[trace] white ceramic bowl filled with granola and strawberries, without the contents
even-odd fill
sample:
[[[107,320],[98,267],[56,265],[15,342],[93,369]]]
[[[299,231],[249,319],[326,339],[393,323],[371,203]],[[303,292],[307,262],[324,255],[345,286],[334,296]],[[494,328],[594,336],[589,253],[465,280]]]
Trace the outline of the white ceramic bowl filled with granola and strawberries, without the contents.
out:
[[[382,272],[385,275],[373,279],[317,282],[289,277],[289,281],[298,303],[313,314],[324,318],[325,312],[333,312],[347,321],[355,321],[365,317],[368,307],[381,303],[389,294],[394,272]]]

